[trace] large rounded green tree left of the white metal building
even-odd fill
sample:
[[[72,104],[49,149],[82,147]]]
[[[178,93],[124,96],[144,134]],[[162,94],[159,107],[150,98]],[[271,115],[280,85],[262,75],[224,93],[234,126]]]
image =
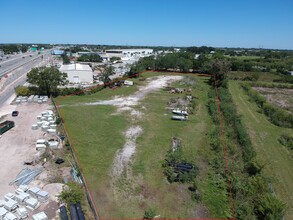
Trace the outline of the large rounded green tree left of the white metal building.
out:
[[[39,67],[27,74],[27,82],[37,86],[40,95],[50,96],[57,95],[57,87],[67,83],[66,77],[66,73],[61,73],[55,67]]]

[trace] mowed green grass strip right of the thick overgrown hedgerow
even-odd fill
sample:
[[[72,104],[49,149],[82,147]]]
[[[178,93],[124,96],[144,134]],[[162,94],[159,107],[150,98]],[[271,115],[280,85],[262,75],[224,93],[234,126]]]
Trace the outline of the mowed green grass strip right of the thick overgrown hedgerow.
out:
[[[288,205],[286,217],[292,219],[292,152],[278,142],[283,132],[292,132],[292,130],[271,124],[265,115],[258,112],[256,104],[248,100],[238,82],[231,81],[229,89],[239,113],[243,116],[243,122],[248,128],[257,157],[265,164],[265,172],[272,180],[274,192]]]

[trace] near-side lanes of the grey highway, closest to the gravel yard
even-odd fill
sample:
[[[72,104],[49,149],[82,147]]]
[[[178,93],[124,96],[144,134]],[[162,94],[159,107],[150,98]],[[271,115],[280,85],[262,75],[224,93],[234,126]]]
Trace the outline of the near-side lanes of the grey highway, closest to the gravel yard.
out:
[[[44,59],[42,59],[41,55],[31,57],[32,59],[26,60],[25,62],[20,61],[20,59],[23,59],[22,57],[15,58],[14,66],[10,66],[8,71],[9,77],[5,79],[5,82],[2,84],[2,87],[0,88],[0,108],[6,102],[6,100],[14,94],[15,87],[17,87],[18,85],[23,85],[25,83],[26,74],[32,68],[41,65],[46,65],[45,59],[47,59],[48,57],[48,52],[45,52],[43,54]],[[0,71],[0,76],[1,73],[3,74],[3,72]]]

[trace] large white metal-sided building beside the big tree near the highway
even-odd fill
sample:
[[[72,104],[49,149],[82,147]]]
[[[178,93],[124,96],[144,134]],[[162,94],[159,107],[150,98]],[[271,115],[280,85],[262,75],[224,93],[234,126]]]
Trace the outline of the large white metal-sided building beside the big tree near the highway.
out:
[[[67,73],[69,83],[92,83],[93,70],[89,65],[74,63],[62,65],[60,72]]]

